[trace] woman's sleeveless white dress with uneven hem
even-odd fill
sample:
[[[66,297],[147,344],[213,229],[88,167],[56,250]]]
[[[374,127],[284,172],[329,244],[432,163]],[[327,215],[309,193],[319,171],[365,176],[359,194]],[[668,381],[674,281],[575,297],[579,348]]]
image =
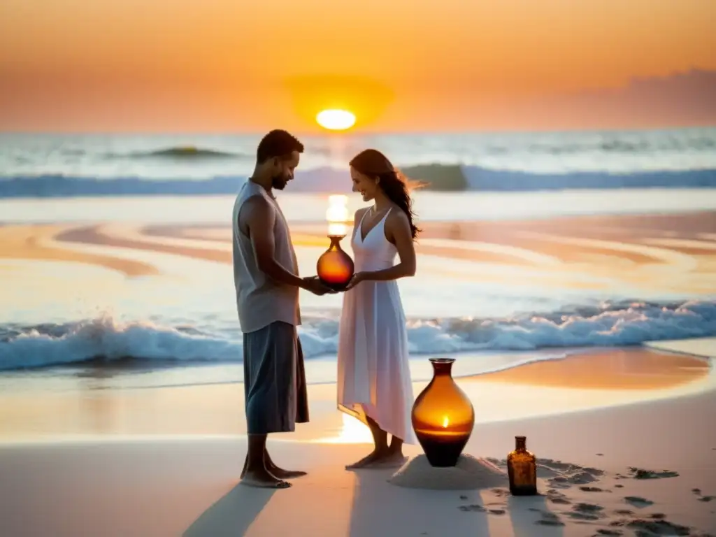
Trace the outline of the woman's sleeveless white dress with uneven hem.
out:
[[[391,209],[392,210],[392,209]],[[351,238],[355,271],[395,264],[397,248],[385,238],[385,219],[362,238],[366,211]],[[343,297],[338,342],[338,407],[390,435],[416,443],[405,313],[397,281],[362,281]]]

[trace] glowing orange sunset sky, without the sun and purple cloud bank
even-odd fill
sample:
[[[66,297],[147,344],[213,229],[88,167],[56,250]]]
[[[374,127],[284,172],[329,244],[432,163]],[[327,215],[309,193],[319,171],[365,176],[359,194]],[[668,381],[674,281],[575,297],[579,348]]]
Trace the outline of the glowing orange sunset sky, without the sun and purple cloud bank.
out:
[[[379,132],[587,128],[561,99],[716,71],[714,20],[714,0],[3,0],[0,130],[310,131],[326,107]]]

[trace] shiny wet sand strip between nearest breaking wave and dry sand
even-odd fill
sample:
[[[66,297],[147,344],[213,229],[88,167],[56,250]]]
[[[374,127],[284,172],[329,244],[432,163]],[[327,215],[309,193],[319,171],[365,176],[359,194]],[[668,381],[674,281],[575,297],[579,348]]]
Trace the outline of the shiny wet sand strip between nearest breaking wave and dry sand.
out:
[[[0,396],[0,442],[246,432],[240,382],[122,389],[108,387],[106,377],[111,374],[88,368],[72,385],[53,384],[52,379],[43,384],[39,379],[26,382],[26,389],[16,378],[15,389]],[[708,359],[639,347],[585,352],[456,382],[473,400],[478,423],[681,397],[716,386]],[[426,385],[414,382],[415,395]],[[309,384],[311,422],[295,436],[369,442],[365,427],[337,412],[336,400],[335,382]]]

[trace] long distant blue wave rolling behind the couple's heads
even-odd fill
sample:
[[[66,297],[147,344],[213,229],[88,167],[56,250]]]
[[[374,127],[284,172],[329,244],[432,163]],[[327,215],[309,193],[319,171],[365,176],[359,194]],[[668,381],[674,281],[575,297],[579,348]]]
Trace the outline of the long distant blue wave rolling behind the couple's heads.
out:
[[[716,188],[716,169],[639,173],[526,173],[478,166],[427,164],[402,168],[428,190],[524,192],[536,190],[609,190],[615,188]],[[120,195],[234,194],[246,175],[207,179],[140,177],[96,178],[69,175],[19,175],[0,179],[0,198],[65,198]],[[314,168],[296,173],[291,192],[349,193],[346,170]]]

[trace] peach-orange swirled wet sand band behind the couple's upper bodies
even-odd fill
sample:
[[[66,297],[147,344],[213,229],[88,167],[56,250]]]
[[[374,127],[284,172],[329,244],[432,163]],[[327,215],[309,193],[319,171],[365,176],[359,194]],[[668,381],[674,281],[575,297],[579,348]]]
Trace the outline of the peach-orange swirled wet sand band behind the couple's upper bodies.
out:
[[[423,259],[475,263],[436,269],[438,277],[502,281],[495,269],[528,269],[531,284],[609,291],[619,284],[664,293],[716,293],[716,213],[662,216],[580,216],[533,221],[425,222],[417,243]],[[294,243],[323,248],[325,224],[292,224]],[[348,239],[345,239],[347,246]],[[83,245],[117,248],[97,255]],[[103,266],[125,276],[159,274],[150,263],[121,251],[151,251],[231,263],[226,225],[42,225],[0,228],[0,257],[72,261]]]

